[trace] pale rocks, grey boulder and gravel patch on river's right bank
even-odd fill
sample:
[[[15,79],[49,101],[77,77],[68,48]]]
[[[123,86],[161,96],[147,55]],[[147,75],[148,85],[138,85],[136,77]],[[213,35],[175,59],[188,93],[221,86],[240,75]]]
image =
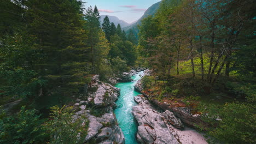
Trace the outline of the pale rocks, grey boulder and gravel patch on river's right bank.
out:
[[[164,111],[152,104],[144,95],[135,97],[137,106],[133,106],[132,114],[139,126],[136,135],[140,143],[184,143],[207,144],[202,134],[183,125],[171,111]]]

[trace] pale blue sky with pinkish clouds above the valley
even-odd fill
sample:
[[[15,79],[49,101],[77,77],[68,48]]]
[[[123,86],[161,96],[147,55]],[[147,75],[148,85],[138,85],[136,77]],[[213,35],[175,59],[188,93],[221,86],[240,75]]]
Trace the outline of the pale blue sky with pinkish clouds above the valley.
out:
[[[137,21],[154,3],[161,0],[83,0],[85,8],[97,8],[101,15],[117,16],[128,23]]]

